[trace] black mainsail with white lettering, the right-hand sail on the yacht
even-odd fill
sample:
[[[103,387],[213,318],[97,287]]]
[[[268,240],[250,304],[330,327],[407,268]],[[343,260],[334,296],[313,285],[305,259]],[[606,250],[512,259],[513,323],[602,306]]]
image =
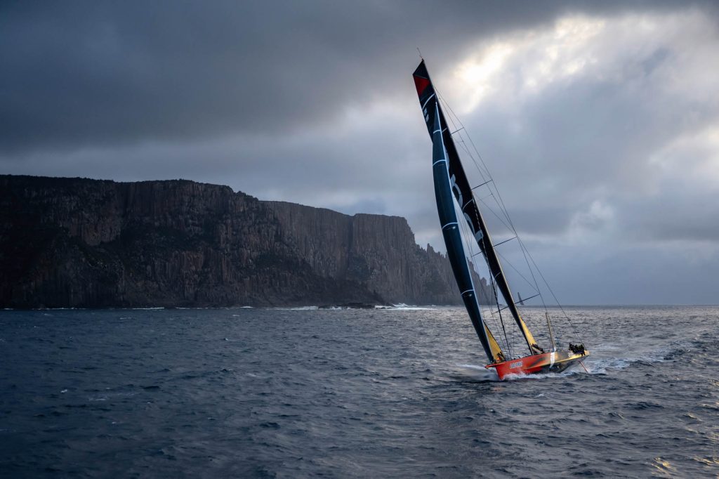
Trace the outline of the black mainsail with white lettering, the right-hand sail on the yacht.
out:
[[[514,302],[512,292],[509,288],[509,284],[507,283],[507,279],[505,278],[504,271],[502,270],[502,265],[499,261],[497,252],[495,252],[493,247],[489,231],[487,230],[487,225],[482,218],[477,201],[472,193],[472,188],[470,188],[470,182],[467,180],[467,175],[464,173],[462,162],[459,160],[459,154],[457,153],[457,147],[454,145],[452,133],[450,133],[449,128],[447,128],[444,113],[439,106],[439,101],[437,99],[436,92],[434,91],[434,86],[432,86],[431,79],[429,78],[429,73],[427,72],[424,60],[419,63],[413,73],[413,77],[417,88],[417,94],[419,96],[419,103],[422,108],[422,113],[427,124],[429,135],[432,137],[432,142],[436,145],[435,137],[439,137],[439,140],[441,140],[446,152],[446,169],[449,176],[450,190],[454,195],[454,199],[456,199],[457,204],[459,204],[462,214],[464,215],[464,219],[469,225],[472,235],[475,237],[475,241],[477,242],[477,245],[479,245],[480,251],[487,261],[490,274],[493,276],[500,293],[502,293],[502,296],[505,298],[508,309],[522,332],[522,336],[527,343],[529,351],[531,354],[541,352],[541,348],[536,344],[533,335],[524,323]],[[437,129],[435,128],[435,121],[439,124],[440,130],[437,135],[434,133]],[[447,255],[449,255],[449,244],[447,244]],[[455,270],[455,276],[456,275],[457,272]],[[461,288],[462,286],[460,286],[460,291],[464,291]],[[477,327],[475,325],[475,329],[476,328]],[[477,334],[480,334],[479,330],[477,330]],[[480,339],[482,338],[480,337]]]

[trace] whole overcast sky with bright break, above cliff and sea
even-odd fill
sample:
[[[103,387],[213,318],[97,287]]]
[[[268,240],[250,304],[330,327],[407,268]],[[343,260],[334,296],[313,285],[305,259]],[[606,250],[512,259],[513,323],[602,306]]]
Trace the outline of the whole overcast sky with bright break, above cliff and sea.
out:
[[[562,302],[719,303],[710,1],[4,1],[0,173],[221,183],[444,250],[416,47]]]

